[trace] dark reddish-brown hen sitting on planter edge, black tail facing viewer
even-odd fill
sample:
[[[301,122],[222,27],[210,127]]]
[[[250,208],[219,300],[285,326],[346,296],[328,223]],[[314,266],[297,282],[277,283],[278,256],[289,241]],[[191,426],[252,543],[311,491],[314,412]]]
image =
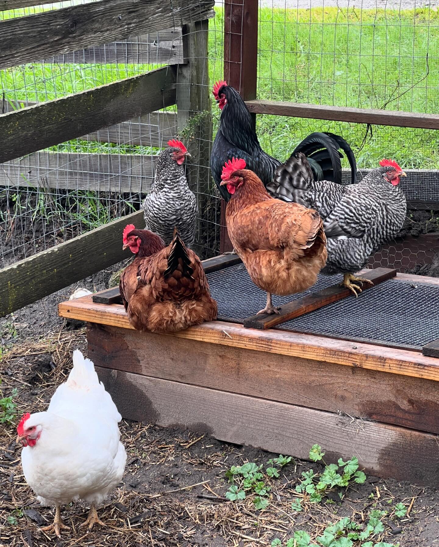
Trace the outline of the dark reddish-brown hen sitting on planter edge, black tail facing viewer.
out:
[[[124,248],[137,256],[124,270],[119,290],[135,329],[175,332],[216,319],[217,304],[201,261],[176,230],[167,247],[148,230],[125,230]],[[152,254],[151,249],[157,250]]]

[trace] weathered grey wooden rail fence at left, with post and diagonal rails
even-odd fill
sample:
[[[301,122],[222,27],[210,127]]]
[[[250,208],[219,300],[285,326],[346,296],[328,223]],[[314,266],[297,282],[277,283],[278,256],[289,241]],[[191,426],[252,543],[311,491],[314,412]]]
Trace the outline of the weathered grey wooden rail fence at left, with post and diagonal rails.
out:
[[[0,10],[37,4],[41,1],[0,0]],[[194,113],[209,110],[207,31],[212,8],[213,0],[96,0],[0,21],[0,68],[41,59],[166,63],[163,68],[54,101],[4,102],[0,184],[145,192],[152,181],[153,157],[40,151],[83,136],[123,143],[127,131],[130,144],[161,146],[160,140],[181,132]],[[152,32],[159,33],[158,39],[151,40]],[[146,50],[138,45],[140,40],[148,43]],[[174,104],[177,115],[157,112]],[[198,146],[195,139],[189,144],[188,178],[202,191],[209,185],[209,170],[204,166],[209,165],[210,147],[204,142],[211,140],[210,116],[192,125],[202,144]],[[137,181],[134,188],[133,181]],[[115,220],[0,270],[0,316],[126,258],[115,241],[126,223],[140,224],[141,217],[138,212]]]

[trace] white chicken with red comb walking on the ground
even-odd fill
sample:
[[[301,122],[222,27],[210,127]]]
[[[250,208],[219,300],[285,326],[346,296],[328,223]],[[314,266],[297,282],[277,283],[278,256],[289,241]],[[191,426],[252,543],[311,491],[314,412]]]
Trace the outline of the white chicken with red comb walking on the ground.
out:
[[[125,470],[126,453],[119,441],[122,419],[90,359],[73,352],[73,369],[45,412],[24,414],[17,427],[21,464],[28,485],[42,505],[54,505],[55,520],[43,530],[66,528],[60,506],[78,499],[91,504],[81,526],[95,523],[96,504],[115,488]]]

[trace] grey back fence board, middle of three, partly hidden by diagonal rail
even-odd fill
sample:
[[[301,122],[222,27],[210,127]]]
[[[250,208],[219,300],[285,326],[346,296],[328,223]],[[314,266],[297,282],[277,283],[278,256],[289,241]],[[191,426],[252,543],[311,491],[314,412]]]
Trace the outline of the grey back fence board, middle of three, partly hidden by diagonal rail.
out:
[[[35,106],[38,103],[25,101],[4,101],[2,112]],[[177,134],[177,115],[174,112],[151,112],[143,116],[111,125],[79,138],[86,141],[112,142],[115,144],[135,144],[161,148]]]

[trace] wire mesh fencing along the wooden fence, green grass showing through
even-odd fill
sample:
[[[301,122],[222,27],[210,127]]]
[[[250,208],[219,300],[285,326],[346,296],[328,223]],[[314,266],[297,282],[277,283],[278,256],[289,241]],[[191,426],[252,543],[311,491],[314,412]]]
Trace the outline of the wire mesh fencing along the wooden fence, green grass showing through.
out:
[[[70,0],[0,11],[0,19],[85,3]],[[437,111],[439,19],[434,3],[424,7],[408,0],[362,0],[354,6],[347,0],[261,0],[258,13],[258,98]],[[223,29],[224,4],[217,2],[215,18],[209,21],[209,82],[191,85],[209,85],[210,90],[223,77]],[[7,112],[181,60],[181,29],[175,27],[4,69],[0,107]],[[176,107],[167,107],[3,164],[0,267],[138,210],[160,148],[178,133],[176,114]],[[210,115],[204,110],[198,114],[201,122]],[[219,118],[212,102],[213,135]],[[394,152],[406,169],[426,170],[409,178],[405,190],[413,196],[409,199],[439,200],[436,131],[258,116],[261,144],[279,159],[286,159],[293,146],[317,130],[342,135],[353,147],[360,168],[374,167],[378,159]],[[190,127],[185,136],[195,139],[199,148],[211,142],[205,135],[191,133]],[[209,168],[205,164],[204,160],[195,165],[197,172],[205,172]],[[197,250],[208,257],[219,251],[220,201],[212,181],[207,187],[191,184],[201,204]],[[430,226],[439,223],[434,213],[430,220]],[[392,253],[396,251],[390,250],[389,260]],[[411,257],[415,261],[417,252]],[[74,286],[105,288],[111,272],[120,266]],[[2,345],[59,328],[56,302],[68,298],[72,290],[69,287],[1,319]]]

